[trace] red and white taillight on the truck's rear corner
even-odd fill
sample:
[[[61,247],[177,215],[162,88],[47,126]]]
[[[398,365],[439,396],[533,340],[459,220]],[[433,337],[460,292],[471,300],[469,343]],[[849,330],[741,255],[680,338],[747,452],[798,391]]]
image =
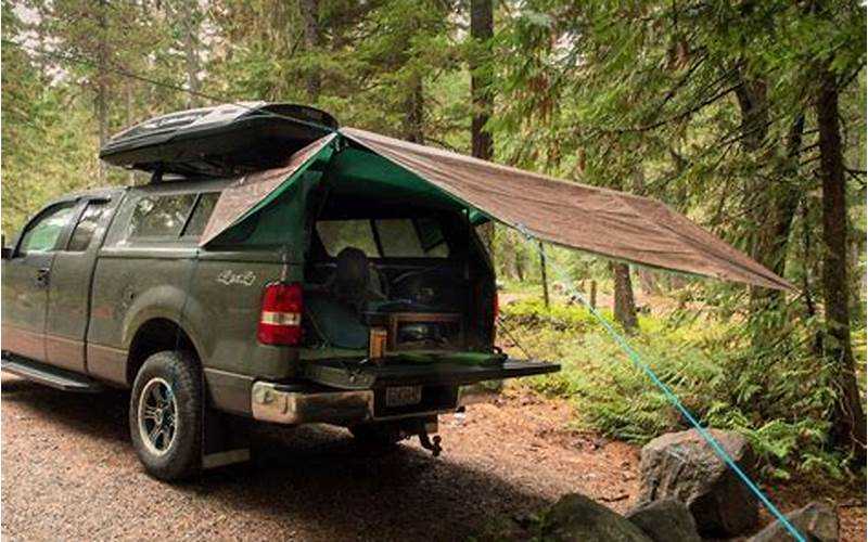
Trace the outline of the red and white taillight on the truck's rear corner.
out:
[[[295,346],[302,341],[302,285],[275,282],[265,287],[256,337],[264,345]]]

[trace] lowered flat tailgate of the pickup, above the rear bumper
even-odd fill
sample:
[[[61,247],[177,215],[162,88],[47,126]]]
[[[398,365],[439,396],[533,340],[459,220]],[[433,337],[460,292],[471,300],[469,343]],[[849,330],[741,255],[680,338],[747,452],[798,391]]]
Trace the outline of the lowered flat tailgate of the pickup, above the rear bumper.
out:
[[[323,360],[305,363],[305,377],[341,389],[376,389],[392,386],[462,386],[483,380],[500,380],[560,371],[557,363],[508,359],[496,364],[373,363]]]

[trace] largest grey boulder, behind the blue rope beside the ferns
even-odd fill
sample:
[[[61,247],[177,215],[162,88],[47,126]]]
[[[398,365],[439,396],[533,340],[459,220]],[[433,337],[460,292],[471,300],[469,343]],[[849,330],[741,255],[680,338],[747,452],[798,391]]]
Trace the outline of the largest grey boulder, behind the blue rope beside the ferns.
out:
[[[733,433],[710,429],[749,476],[754,459],[748,441]],[[675,499],[687,504],[704,538],[729,538],[757,522],[757,503],[738,475],[695,429],[669,433],[642,448],[638,504]]]

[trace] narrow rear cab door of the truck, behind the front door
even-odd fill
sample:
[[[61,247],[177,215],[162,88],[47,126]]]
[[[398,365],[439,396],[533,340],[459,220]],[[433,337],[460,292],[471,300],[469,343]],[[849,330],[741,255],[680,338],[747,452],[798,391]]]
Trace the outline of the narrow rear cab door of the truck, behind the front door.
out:
[[[46,358],[52,365],[86,371],[85,336],[93,268],[115,206],[116,202],[106,197],[80,201],[72,235],[54,255],[46,321]]]

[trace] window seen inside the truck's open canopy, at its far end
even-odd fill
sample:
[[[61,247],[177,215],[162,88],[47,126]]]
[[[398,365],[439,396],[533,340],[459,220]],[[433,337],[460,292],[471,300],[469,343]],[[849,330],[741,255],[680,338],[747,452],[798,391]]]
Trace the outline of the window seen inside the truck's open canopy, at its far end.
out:
[[[432,218],[320,220],[317,233],[329,256],[355,247],[372,258],[449,257],[441,224]]]

